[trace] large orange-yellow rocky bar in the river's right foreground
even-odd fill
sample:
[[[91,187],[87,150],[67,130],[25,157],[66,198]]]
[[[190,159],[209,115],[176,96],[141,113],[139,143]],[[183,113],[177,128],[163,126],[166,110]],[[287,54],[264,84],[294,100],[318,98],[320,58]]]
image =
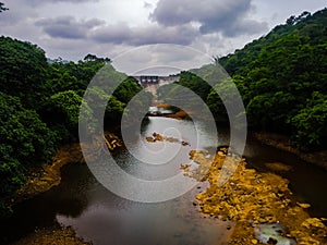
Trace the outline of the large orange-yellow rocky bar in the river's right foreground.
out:
[[[226,151],[218,151],[211,158],[205,151],[191,151],[190,157],[199,166],[193,171],[186,168],[185,174],[210,184],[196,196],[199,211],[235,222],[229,244],[263,244],[258,231],[265,230],[264,225],[271,225],[268,235],[265,234],[271,244],[278,241],[288,244],[296,241],[302,245],[327,243],[326,219],[310,217],[305,211],[310,204],[296,201],[286,179],[249,169],[245,159],[227,156]],[[219,187],[219,174],[232,172],[237,164],[232,176]],[[279,225],[274,234],[271,229]]]

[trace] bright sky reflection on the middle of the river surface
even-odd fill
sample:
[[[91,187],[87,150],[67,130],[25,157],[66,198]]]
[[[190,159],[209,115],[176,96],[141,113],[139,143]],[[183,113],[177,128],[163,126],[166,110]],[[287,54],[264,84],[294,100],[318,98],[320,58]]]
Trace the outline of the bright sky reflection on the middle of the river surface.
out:
[[[146,142],[145,137],[154,132],[185,140],[190,146]],[[135,137],[132,147],[121,150],[116,160],[135,176],[161,180],[181,172],[180,164],[190,162],[191,149],[214,146],[217,137],[211,137],[204,125],[194,125],[192,121],[150,118],[141,137]],[[192,179],[187,181],[195,182]],[[142,204],[120,198],[93,182],[84,189],[88,205],[81,216],[57,215],[56,219],[63,225],[73,226],[77,235],[98,245],[222,244],[230,233],[226,229],[228,222],[202,217],[193,206],[198,192],[198,188],[194,188],[166,203]]]

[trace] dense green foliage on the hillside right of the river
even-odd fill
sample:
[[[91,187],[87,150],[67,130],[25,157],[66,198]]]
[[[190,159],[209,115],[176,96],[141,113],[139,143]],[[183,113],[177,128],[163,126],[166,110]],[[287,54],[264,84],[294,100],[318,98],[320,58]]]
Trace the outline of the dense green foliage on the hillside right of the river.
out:
[[[303,12],[291,16],[243,49],[220,59],[216,57],[215,63],[220,63],[233,78],[250,126],[287,134],[302,149],[326,146],[327,9],[313,15]],[[210,71],[205,65],[192,72],[206,79],[213,75]],[[177,84],[203,98],[217,121],[227,120],[221,97],[194,74],[181,73]],[[221,76],[217,81],[215,88],[233,98],[228,79]],[[178,90],[181,88],[167,85],[160,88],[159,96],[174,98],[180,96]]]

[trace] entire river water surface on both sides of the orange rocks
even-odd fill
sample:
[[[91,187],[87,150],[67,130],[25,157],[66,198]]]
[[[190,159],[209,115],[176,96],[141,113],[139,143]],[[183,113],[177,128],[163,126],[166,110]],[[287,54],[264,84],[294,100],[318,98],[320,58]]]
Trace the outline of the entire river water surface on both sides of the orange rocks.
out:
[[[194,130],[199,134],[195,136]],[[147,143],[146,136],[154,132],[190,143]],[[218,145],[228,144],[228,131],[219,130]],[[192,121],[167,118],[149,118],[143,127],[142,137],[133,142],[130,151],[141,160],[149,160],[148,149],[166,150],[158,162],[169,162],[167,171],[144,168],[129,150],[116,152],[118,164],[126,172],[143,179],[167,177],[180,172],[180,164],[187,163],[189,152],[194,147],[215,147],[216,137],[205,125]],[[178,150],[177,150],[178,149]],[[178,152],[178,154],[175,154]],[[250,166],[267,171],[265,162],[282,162],[292,166],[283,173],[290,186],[302,201],[312,204],[310,211],[315,216],[327,216],[325,186],[327,173],[307,164],[295,156],[264,146],[249,138],[244,155]],[[169,161],[167,161],[169,159]],[[47,193],[26,200],[15,207],[15,215],[2,221],[0,242],[12,242],[34,232],[36,229],[52,228],[56,224],[71,225],[77,236],[95,245],[217,245],[227,244],[231,233],[229,221],[204,218],[193,205],[195,195],[206,188],[206,183],[194,183],[186,194],[159,204],[136,203],[121,198],[106,189],[90,173],[86,164],[70,164],[62,169],[62,182]]]

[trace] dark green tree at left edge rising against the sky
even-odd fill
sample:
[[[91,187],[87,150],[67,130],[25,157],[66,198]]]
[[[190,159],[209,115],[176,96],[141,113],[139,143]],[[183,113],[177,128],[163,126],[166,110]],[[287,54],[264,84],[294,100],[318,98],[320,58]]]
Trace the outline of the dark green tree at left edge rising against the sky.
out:
[[[45,51],[29,42],[2,36],[0,68],[0,90],[19,97],[25,107],[39,108],[47,96]]]

